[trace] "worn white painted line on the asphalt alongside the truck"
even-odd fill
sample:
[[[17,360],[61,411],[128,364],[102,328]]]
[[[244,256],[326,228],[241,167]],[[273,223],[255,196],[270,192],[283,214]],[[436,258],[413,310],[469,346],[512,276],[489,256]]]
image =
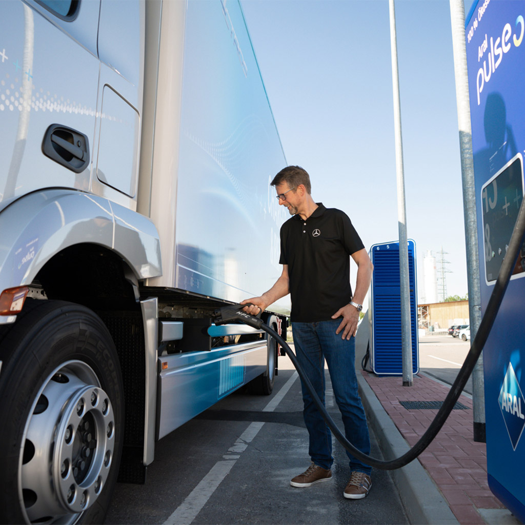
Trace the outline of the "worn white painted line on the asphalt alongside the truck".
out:
[[[262,409],[262,411],[274,412],[277,405],[282,401],[282,398],[287,394],[298,377],[299,374],[293,372],[290,379]],[[246,450],[248,444],[255,438],[263,426],[264,423],[260,421],[250,423],[248,428],[236,439],[233,446],[228,448],[228,454],[223,456],[228,459],[225,461],[217,461],[208,474],[206,474],[206,476],[204,476],[197,486],[188,494],[181,505],[175,509],[163,525],[190,525],[240,457],[240,455],[230,454],[232,452],[239,454]]]

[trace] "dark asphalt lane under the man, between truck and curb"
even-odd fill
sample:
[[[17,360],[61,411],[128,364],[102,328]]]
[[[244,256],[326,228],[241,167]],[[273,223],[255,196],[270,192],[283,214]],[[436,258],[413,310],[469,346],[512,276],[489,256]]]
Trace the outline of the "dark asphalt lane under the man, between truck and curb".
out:
[[[295,376],[280,357],[271,396],[234,393],[161,439],[146,484],[118,484],[106,523],[407,523],[386,471],[373,471],[365,499],[343,498],[348,458],[337,442],[331,481],[290,487],[309,465]],[[341,426],[328,374],[327,407]],[[381,457],[371,437],[372,455]]]

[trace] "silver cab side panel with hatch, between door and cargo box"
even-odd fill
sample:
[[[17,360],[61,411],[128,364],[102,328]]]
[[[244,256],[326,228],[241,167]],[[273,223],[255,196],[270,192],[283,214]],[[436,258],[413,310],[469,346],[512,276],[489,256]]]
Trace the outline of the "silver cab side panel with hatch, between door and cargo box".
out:
[[[144,2],[103,0],[98,54],[100,80],[91,191],[133,210],[137,207]]]

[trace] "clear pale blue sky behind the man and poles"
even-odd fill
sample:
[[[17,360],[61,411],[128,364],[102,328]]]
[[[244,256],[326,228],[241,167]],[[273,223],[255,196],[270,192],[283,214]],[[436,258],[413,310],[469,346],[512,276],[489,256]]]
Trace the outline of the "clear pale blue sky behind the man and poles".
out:
[[[388,2],[241,0],[241,6],[288,163],[310,173],[317,202],[348,213],[367,249],[397,240]],[[395,10],[408,237],[416,242],[418,277],[426,251],[443,248],[451,271],[447,295],[463,296],[449,3],[397,0]]]

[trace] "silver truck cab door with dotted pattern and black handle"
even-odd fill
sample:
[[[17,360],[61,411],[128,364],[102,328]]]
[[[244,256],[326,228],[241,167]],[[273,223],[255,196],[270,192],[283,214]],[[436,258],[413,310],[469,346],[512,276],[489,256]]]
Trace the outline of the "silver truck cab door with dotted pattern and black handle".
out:
[[[1,10],[0,209],[40,188],[87,191],[100,2],[3,2]]]

